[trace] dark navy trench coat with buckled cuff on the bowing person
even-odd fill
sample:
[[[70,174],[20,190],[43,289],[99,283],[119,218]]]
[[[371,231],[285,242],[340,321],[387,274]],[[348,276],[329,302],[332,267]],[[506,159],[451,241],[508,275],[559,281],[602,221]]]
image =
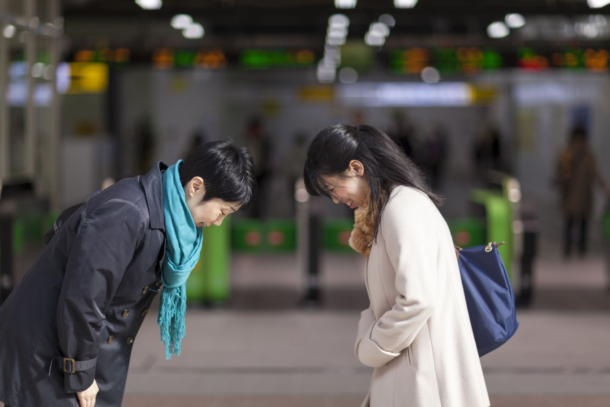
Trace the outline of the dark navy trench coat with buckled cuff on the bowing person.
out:
[[[0,401],[78,406],[76,392],[95,378],[96,407],[121,405],[132,344],[161,286],[166,169],[159,162],[91,197],[2,304]]]

